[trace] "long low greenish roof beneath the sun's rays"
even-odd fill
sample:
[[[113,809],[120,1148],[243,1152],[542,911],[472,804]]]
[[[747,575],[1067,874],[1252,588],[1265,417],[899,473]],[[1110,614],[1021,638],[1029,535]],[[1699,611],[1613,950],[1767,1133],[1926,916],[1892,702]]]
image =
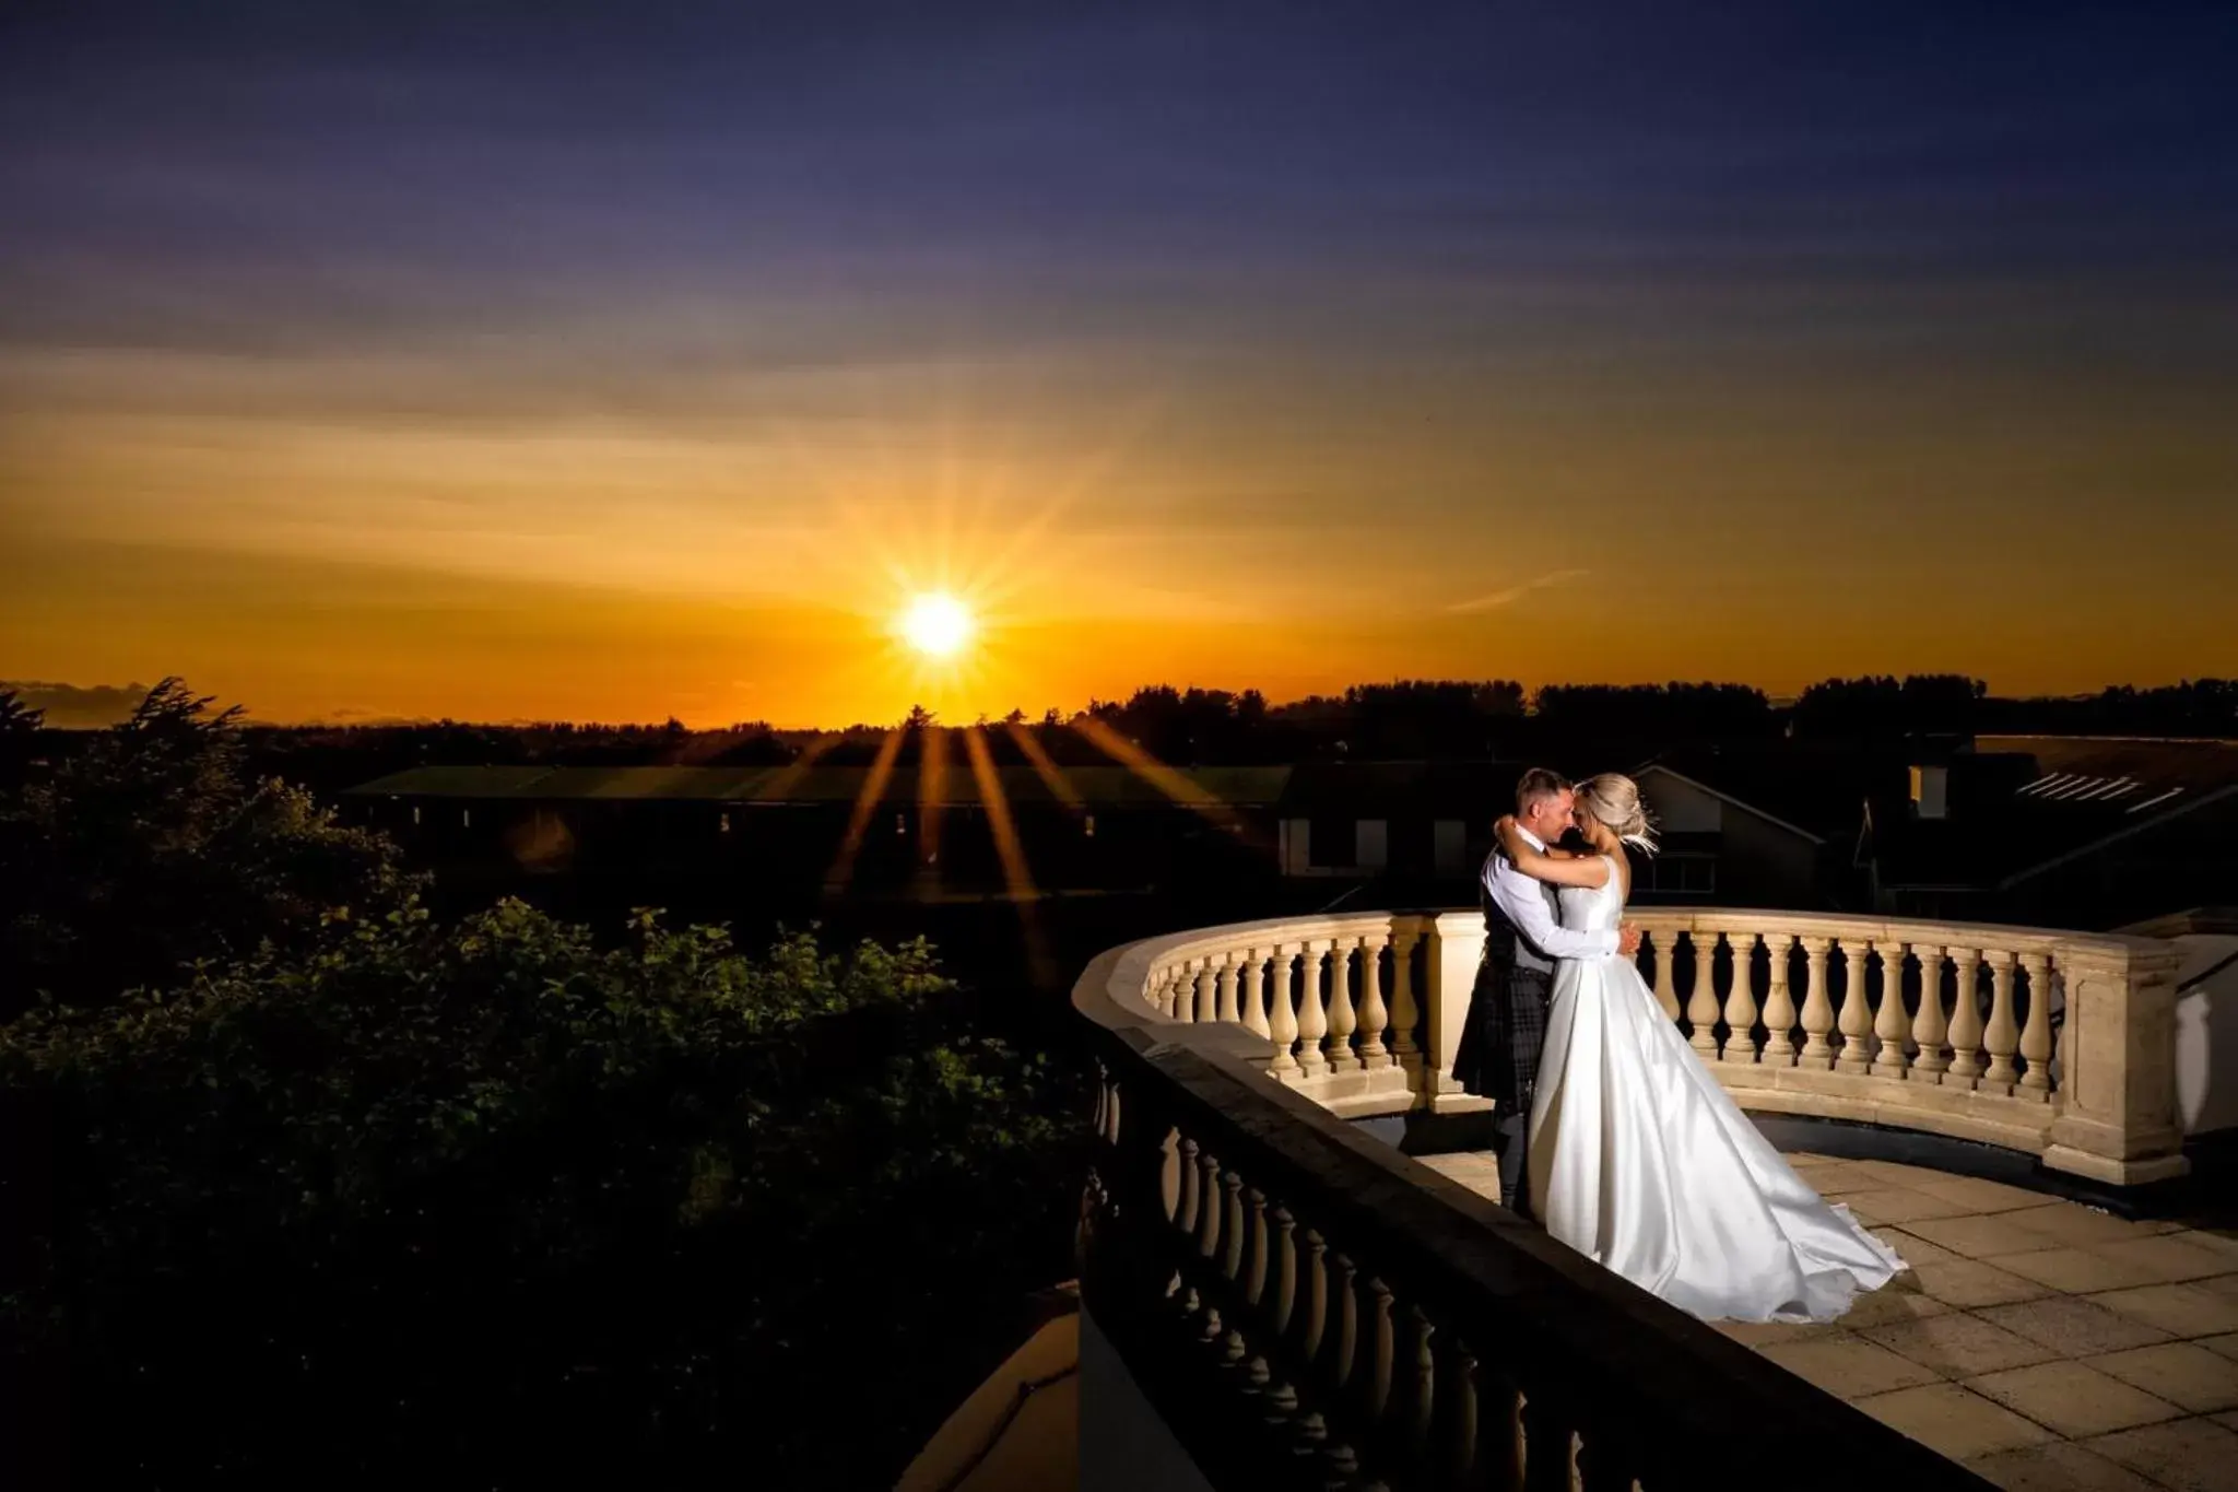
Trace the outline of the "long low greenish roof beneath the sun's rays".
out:
[[[412,767],[351,787],[360,799],[472,799],[555,803],[555,801],[687,801],[687,803],[855,803],[871,783],[871,767]],[[996,767],[1003,799],[1018,803],[1056,803],[1032,767]],[[1132,767],[1059,767],[1072,794],[1088,808],[1148,808],[1182,803],[1211,808],[1271,805],[1282,796],[1289,767],[1193,767],[1159,774],[1155,785]],[[1170,792],[1168,792],[1170,790]],[[918,767],[895,767],[882,790],[882,803],[918,803]],[[942,808],[980,805],[978,776],[969,761],[949,761],[940,772],[938,803]]]

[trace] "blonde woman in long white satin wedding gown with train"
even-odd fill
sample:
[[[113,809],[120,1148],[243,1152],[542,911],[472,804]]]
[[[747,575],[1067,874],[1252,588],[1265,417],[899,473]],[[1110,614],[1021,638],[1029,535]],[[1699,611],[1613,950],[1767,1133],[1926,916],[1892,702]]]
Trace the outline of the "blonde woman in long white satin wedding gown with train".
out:
[[[1564,928],[1614,928],[1625,843],[1652,848],[1638,785],[1580,783],[1576,823],[1593,854],[1538,850],[1513,819],[1497,834],[1560,888]],[[1558,966],[1529,1134],[1546,1233],[1699,1318],[1828,1322],[1907,1268],[1779,1159],[1623,955]]]

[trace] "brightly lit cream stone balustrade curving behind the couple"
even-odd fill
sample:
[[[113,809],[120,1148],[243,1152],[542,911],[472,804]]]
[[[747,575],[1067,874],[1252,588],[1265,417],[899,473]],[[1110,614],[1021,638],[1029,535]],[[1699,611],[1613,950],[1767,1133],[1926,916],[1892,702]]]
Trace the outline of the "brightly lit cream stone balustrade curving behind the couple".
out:
[[[1640,969],[1741,1107],[1929,1130],[2113,1186],[2184,1172],[2171,944],[1945,922],[1640,908]],[[1347,913],[1150,939],[1119,998],[1226,1022],[1338,1116],[1482,1105],[1455,1056],[1479,913]]]

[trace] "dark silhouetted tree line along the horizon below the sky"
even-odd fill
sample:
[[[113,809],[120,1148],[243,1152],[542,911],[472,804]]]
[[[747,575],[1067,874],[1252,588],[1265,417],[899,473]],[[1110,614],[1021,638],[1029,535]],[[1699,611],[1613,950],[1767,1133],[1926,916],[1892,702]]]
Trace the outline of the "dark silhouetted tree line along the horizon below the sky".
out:
[[[1110,727],[1175,765],[1276,765],[1303,761],[1491,758],[1569,745],[1654,754],[1696,740],[1893,740],[1902,736],[2068,734],[2238,738],[2238,682],[2115,684],[2075,698],[2001,698],[1978,678],[1916,673],[1831,678],[1795,700],[1730,682],[1544,684],[1515,680],[1394,680],[1343,693],[1271,702],[1258,689],[1150,684],[1123,700],[1090,700],[1065,714],[942,720],[915,707],[897,723],[779,729],[743,720],[718,729],[660,725],[244,725],[246,765],[318,790],[338,790],[416,765],[698,765],[777,767],[812,754],[819,765],[864,767],[900,729],[897,765],[915,765],[935,727],[987,731],[996,765],[1045,756],[1061,767],[1108,765],[1085,740],[1085,720]],[[38,711],[0,689],[0,772],[69,754],[85,731],[43,729]],[[9,767],[16,761],[18,767]]]

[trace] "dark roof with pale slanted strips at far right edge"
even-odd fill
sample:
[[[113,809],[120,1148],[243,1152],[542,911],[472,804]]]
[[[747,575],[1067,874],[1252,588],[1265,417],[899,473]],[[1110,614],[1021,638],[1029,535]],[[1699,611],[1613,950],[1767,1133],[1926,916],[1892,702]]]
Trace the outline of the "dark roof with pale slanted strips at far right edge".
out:
[[[1974,761],[1949,763],[1947,819],[1878,816],[1882,884],[2010,888],[2238,794],[2238,740],[1983,736],[1974,747]]]

